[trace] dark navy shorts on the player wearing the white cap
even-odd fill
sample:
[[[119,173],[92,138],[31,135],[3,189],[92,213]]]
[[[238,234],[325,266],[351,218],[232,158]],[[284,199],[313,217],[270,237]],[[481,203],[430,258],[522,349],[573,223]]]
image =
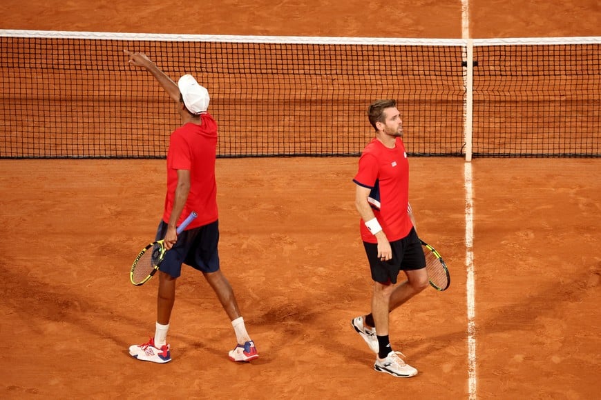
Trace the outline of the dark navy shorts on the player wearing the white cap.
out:
[[[167,224],[159,223],[155,240],[165,237]],[[199,226],[178,234],[178,241],[165,253],[159,270],[174,278],[182,274],[182,263],[200,272],[216,272],[219,270],[219,221]]]

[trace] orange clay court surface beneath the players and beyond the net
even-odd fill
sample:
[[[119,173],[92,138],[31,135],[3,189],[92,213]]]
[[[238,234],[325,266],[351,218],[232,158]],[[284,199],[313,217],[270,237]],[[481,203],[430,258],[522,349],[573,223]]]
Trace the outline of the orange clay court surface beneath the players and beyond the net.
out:
[[[594,1],[471,5],[473,37],[598,36]],[[195,34],[461,37],[461,5],[346,1],[5,1],[1,28]],[[371,281],[354,208],[357,159],[219,159],[222,268],[260,358],[232,363],[234,335],[184,269],[173,361],[132,359],[154,330],[156,283],[128,281],[164,200],[163,160],[0,160],[5,399],[595,399],[601,388],[598,159],[474,159],[475,359],[468,357],[466,163],[410,159],[418,232],[451,269],[391,315],[392,344],[420,371],[394,379],[350,320]]]

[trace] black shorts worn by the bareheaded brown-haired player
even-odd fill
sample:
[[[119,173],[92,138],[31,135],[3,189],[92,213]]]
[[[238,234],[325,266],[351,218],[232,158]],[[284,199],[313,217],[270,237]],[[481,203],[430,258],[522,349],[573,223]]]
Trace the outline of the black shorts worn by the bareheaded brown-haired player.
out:
[[[414,228],[403,239],[390,242],[392,259],[381,261],[378,257],[377,243],[363,242],[365,254],[368,254],[372,279],[380,283],[397,283],[399,271],[421,270],[426,268],[426,257],[423,256],[421,241]]]

